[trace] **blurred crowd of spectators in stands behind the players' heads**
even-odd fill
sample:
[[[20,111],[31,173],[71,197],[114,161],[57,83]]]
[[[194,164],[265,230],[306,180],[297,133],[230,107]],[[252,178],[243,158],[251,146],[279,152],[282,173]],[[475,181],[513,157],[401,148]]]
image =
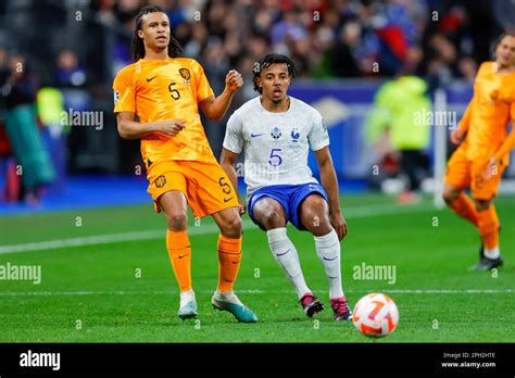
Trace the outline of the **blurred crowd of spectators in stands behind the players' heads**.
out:
[[[514,25],[510,1],[455,0],[98,0],[96,18],[131,36],[141,5],[166,10],[184,53],[250,72],[268,51],[291,56],[305,77],[399,74],[472,79],[491,42]],[[512,20],[510,20],[512,18]],[[130,62],[118,38],[114,70]]]

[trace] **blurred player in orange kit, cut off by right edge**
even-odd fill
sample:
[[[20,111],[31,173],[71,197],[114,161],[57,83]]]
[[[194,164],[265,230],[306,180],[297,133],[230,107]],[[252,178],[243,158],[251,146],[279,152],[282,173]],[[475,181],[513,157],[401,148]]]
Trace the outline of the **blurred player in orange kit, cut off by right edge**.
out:
[[[515,34],[502,35],[495,46],[495,61],[479,67],[474,97],[451,135],[451,141],[461,146],[448,163],[443,199],[479,230],[480,260],[472,267],[476,270],[503,264],[500,223],[492,200],[515,147],[515,127],[507,134],[510,121],[515,121]],[[468,187],[474,202],[463,192]]]

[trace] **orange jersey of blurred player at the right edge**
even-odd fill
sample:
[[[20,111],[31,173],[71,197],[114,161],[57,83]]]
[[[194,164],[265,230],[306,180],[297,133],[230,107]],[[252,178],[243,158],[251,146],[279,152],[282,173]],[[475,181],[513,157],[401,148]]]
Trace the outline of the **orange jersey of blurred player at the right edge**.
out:
[[[493,156],[506,139],[510,121],[515,119],[515,73],[500,74],[494,68],[494,62],[479,67],[474,97],[462,118],[461,127],[468,130],[463,143],[468,160]]]

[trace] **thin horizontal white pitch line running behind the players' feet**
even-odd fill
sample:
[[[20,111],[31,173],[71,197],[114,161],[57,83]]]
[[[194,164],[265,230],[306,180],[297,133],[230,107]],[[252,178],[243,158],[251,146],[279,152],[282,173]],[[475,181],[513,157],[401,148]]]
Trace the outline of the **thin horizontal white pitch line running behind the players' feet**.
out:
[[[211,290],[200,290],[200,293],[211,294]],[[289,294],[293,290],[237,290],[240,294]],[[316,293],[327,293],[327,290],[314,290]],[[393,289],[393,290],[346,290],[346,292],[382,292],[391,294],[513,294],[515,289]],[[173,290],[155,291],[2,291],[0,297],[81,297],[81,295],[173,295]]]

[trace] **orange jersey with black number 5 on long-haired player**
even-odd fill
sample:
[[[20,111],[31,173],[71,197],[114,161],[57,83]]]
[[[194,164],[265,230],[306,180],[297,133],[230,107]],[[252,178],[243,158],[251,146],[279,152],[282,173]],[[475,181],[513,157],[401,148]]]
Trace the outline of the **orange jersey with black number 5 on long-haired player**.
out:
[[[175,137],[150,133],[141,138],[146,162],[215,162],[200,122],[199,102],[213,96],[202,66],[193,59],[140,59],[122,68],[113,83],[114,112],[135,113],[140,123],[176,119],[186,128]]]

